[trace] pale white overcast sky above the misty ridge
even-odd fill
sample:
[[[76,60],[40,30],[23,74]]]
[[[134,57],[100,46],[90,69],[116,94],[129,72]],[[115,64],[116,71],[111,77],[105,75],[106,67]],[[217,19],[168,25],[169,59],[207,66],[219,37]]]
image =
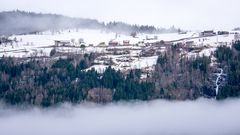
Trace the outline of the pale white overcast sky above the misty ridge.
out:
[[[1,0],[1,11],[57,13],[183,29],[240,26],[239,0]]]

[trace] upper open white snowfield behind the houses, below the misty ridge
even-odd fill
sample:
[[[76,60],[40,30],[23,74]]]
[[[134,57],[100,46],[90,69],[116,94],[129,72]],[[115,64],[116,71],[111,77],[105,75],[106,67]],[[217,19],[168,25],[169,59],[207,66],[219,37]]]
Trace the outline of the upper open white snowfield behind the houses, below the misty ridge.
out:
[[[156,39],[154,39],[156,37]],[[139,34],[136,38],[130,35],[116,34],[101,30],[65,30],[58,32],[42,32],[35,35],[13,35],[10,39],[16,38],[17,43],[1,45],[0,56],[29,57],[35,51],[42,52],[42,55],[49,55],[55,40],[73,41],[73,45],[79,45],[78,41],[83,39],[86,46],[98,46],[101,43],[106,45],[111,41],[123,44],[123,41],[130,41],[129,44],[154,43],[157,41],[193,41],[196,45],[206,45],[216,47],[218,43],[229,44],[234,39],[234,34],[198,38],[197,32],[188,32],[187,34]],[[187,39],[186,39],[187,38]],[[150,40],[147,40],[150,39]],[[183,40],[181,40],[183,39]],[[185,39],[185,40],[184,40]],[[180,40],[180,41],[177,41]],[[48,47],[48,48],[47,48]],[[91,51],[91,50],[90,50]],[[92,50],[96,51],[96,50]]]

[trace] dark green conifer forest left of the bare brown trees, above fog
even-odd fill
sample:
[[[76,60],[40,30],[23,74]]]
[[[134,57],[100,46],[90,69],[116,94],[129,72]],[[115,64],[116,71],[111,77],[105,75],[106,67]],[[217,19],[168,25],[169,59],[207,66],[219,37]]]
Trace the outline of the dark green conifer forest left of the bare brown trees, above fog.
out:
[[[87,69],[90,56],[77,65],[74,59],[59,59],[51,66],[30,60],[17,64],[14,58],[0,59],[0,97],[9,104],[50,106],[57,103],[79,103],[87,100],[92,89],[108,89],[112,100],[148,100],[154,85],[140,81],[141,71],[124,75],[111,67],[104,73]],[[102,98],[104,98],[104,95]]]

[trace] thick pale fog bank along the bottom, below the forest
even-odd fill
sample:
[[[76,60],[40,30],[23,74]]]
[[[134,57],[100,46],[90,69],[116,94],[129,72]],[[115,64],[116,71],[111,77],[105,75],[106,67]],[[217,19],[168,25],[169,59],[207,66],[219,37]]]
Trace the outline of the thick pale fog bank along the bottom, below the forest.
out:
[[[240,134],[240,100],[64,104],[19,110],[1,105],[1,135]]]

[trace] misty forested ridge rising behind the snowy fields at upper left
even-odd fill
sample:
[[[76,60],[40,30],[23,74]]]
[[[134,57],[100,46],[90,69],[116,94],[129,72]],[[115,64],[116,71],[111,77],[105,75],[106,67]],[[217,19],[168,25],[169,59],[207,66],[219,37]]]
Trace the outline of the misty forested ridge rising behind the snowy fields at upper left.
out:
[[[25,11],[0,12],[0,35],[36,34],[46,30],[73,28],[102,29],[116,33],[169,33],[178,29],[157,28],[149,25],[131,25],[123,22],[99,22],[95,19],[72,18],[57,14],[41,14]],[[18,22],[18,25],[16,25]],[[26,24],[26,22],[31,22]]]

